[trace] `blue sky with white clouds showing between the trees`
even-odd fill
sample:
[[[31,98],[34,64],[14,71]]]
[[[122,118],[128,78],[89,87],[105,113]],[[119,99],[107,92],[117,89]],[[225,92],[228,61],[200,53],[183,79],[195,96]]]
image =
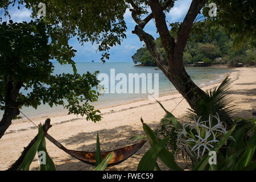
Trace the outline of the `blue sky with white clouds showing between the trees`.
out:
[[[175,6],[171,9],[170,13],[166,13],[168,22],[182,22],[187,14],[191,2],[192,0],[176,1]],[[20,7],[19,10],[17,6],[10,7],[9,13],[14,22],[19,23],[31,20],[31,10],[28,10],[25,7]],[[123,39],[121,45],[110,48],[110,59],[107,60],[108,62],[132,62],[133,60],[131,59],[131,56],[134,55],[137,49],[143,46],[143,42],[139,40],[138,36],[131,32],[134,30],[136,23],[131,17],[129,9],[127,9],[125,13],[125,22],[127,26],[126,39]],[[144,31],[151,34],[154,38],[159,37],[156,33],[154,20],[147,23],[146,27],[144,27]],[[92,60],[95,62],[101,62],[101,52],[97,52],[97,46],[92,45],[89,42],[85,43],[84,46],[81,46],[76,38],[72,38],[69,41],[69,44],[77,50],[76,56],[73,58],[75,62],[91,62]]]

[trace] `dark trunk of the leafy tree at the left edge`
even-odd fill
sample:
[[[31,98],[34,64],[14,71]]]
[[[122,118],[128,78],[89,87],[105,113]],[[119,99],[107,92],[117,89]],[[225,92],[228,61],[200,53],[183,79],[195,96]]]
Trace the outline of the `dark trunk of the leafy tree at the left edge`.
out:
[[[3,114],[3,118],[0,122],[0,139],[11,125],[11,121],[19,115],[16,98],[18,97],[19,89],[22,85],[22,82],[13,82],[6,79],[5,113]]]

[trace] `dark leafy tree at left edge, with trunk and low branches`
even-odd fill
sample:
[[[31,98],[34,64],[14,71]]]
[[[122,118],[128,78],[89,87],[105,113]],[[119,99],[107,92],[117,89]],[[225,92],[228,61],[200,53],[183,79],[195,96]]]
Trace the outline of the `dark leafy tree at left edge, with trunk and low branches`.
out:
[[[78,74],[72,60],[76,50],[68,43],[58,45],[55,37],[50,42],[49,32],[60,34],[43,20],[10,20],[0,26],[0,138],[23,106],[37,109],[42,104],[63,105],[69,114],[86,115],[87,120],[94,122],[101,119],[97,114],[100,111],[89,104],[99,96],[92,90],[98,85],[98,72]],[[61,65],[72,65],[73,74],[54,75],[53,59]]]

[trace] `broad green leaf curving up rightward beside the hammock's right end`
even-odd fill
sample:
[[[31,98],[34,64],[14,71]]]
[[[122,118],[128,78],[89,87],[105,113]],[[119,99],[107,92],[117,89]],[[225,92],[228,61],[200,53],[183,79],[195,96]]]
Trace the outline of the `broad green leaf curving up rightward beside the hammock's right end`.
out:
[[[137,171],[154,171],[158,154],[166,146],[169,138],[170,137],[166,137],[160,140],[143,155],[139,162]]]

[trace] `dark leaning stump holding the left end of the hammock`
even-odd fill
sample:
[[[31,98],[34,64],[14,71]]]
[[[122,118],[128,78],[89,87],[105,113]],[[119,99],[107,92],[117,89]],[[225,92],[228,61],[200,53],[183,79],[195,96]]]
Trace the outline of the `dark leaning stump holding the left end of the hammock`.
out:
[[[46,119],[46,122],[44,122],[44,125],[43,125],[44,134],[46,134],[47,131],[50,129],[50,127],[52,127],[50,122],[51,122],[51,119],[49,118]],[[7,169],[7,171],[17,171],[19,166],[22,164],[23,159],[25,158],[27,152],[30,150],[30,148],[33,146],[33,144],[37,139],[38,139],[38,135],[36,135],[35,138],[31,140],[31,142],[28,144],[27,147],[24,147],[24,150],[22,154],[19,156],[19,159],[17,159],[16,162],[13,165],[11,165],[9,169]]]

